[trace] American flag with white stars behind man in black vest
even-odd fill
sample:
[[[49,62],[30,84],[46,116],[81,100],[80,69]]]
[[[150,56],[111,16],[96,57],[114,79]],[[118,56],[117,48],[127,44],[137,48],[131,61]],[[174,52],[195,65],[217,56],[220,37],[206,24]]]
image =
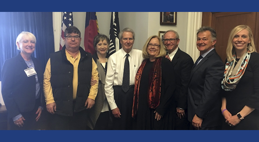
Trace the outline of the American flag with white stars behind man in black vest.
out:
[[[65,42],[63,40],[65,36],[64,32],[69,26],[73,26],[73,14],[72,12],[63,12],[59,50],[61,50],[65,45]]]

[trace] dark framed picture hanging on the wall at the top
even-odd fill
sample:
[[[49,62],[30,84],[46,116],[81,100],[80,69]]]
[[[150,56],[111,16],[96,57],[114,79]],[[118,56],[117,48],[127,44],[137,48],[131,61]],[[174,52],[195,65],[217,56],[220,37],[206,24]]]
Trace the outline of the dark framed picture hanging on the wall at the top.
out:
[[[160,25],[176,25],[177,12],[160,12]]]

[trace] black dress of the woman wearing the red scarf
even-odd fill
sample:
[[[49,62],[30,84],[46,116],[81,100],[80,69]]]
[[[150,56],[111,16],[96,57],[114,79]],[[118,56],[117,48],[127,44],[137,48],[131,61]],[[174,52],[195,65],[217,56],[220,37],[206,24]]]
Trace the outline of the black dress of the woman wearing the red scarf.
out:
[[[175,90],[174,70],[168,59],[163,58],[161,63],[161,97],[160,104],[156,109],[151,109],[147,105],[148,80],[151,77],[149,71],[153,62],[149,60],[143,68],[140,80],[138,110],[133,122],[134,130],[172,130],[174,128],[173,118],[175,110],[173,109],[173,94]],[[163,117],[157,121],[154,111],[157,111]]]

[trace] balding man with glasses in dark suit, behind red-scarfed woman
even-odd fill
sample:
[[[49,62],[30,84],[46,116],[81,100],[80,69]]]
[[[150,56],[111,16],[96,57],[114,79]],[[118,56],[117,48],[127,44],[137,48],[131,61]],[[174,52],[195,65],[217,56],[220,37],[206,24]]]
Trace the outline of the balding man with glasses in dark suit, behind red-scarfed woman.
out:
[[[193,60],[178,47],[180,39],[176,31],[166,31],[162,40],[167,49],[167,55],[174,67],[177,84],[173,106],[177,114],[174,120],[174,130],[189,130],[189,121],[187,119],[187,88],[193,67]]]

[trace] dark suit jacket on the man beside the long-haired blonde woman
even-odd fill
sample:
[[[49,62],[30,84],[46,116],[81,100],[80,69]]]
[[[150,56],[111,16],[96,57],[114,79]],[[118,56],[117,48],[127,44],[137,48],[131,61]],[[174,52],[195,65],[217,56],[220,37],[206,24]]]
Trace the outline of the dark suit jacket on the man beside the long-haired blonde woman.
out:
[[[224,64],[213,49],[192,69],[188,87],[188,120],[203,118],[202,127],[221,124],[221,80]]]

